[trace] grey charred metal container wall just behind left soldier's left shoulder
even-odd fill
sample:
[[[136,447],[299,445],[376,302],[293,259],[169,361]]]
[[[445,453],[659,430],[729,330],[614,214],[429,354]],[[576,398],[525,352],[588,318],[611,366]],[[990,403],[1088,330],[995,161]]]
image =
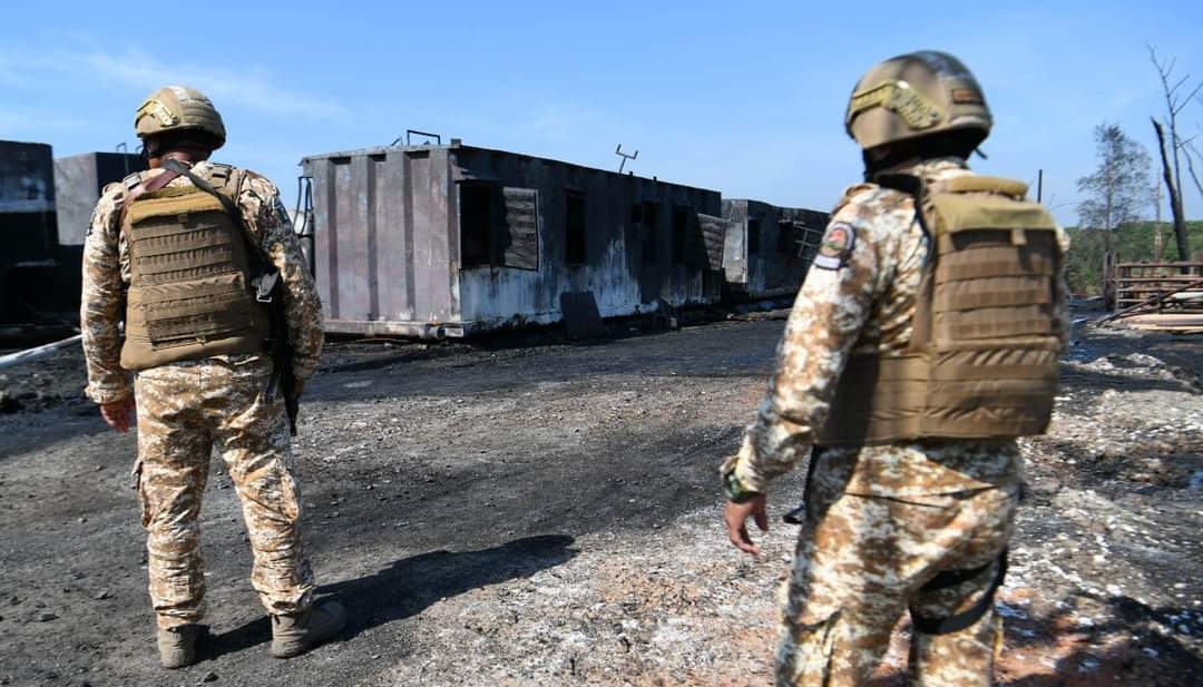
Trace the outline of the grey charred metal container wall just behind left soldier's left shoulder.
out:
[[[83,245],[100,191],[144,167],[138,155],[123,153],[84,153],[54,160],[59,243]]]

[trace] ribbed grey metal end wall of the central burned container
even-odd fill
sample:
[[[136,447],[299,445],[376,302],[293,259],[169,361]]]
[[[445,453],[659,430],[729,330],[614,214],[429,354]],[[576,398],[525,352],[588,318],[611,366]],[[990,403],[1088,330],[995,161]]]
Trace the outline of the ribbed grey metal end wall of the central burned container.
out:
[[[302,161],[313,178],[314,266],[327,328],[421,336],[458,320],[449,152],[372,148]]]

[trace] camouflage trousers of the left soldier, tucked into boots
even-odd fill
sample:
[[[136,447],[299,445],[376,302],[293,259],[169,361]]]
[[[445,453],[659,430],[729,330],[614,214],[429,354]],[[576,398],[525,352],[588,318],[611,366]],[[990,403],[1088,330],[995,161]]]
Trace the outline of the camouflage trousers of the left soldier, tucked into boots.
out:
[[[261,602],[272,614],[301,612],[312,602],[284,403],[265,393],[271,374],[271,360],[244,355],[155,367],[135,380],[135,475],[160,628],[205,614],[197,516],[214,446],[242,502]]]

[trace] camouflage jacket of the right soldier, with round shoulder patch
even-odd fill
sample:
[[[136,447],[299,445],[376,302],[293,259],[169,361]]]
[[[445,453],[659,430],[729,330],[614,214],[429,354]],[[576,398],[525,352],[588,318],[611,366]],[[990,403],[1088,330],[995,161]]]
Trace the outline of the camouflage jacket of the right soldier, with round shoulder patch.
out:
[[[929,182],[970,174],[954,158],[925,161],[908,173]],[[912,319],[929,244],[915,219],[912,196],[875,184],[849,188],[828,226],[847,251],[811,267],[777,348],[777,368],[734,469],[743,488],[766,492],[768,481],[806,458],[823,427],[840,374],[857,353],[901,354]],[[1059,232],[1062,249],[1068,239]],[[826,239],[825,239],[826,241]],[[1068,320],[1059,284],[1062,342]],[[1021,478],[1013,439],[923,440],[824,449],[812,475],[832,480],[847,493],[865,496],[941,494],[1011,482]]]

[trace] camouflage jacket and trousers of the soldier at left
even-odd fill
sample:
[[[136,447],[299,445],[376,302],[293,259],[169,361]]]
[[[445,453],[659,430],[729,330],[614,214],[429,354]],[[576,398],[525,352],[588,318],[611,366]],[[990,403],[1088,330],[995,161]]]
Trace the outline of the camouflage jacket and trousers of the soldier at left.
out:
[[[206,177],[209,162],[192,171]],[[142,172],[142,180],[164,173]],[[189,185],[184,177],[168,186]],[[129,245],[119,213],[123,184],[107,186],[93,215],[83,257],[81,326],[88,359],[88,396],[96,403],[137,399],[138,460],[150,598],[160,628],[195,623],[203,614],[205,576],[196,522],[214,445],[243,505],[255,565],[251,581],[272,614],[309,608],[313,575],[302,549],[300,502],[290,473],[284,404],[265,390],[273,363],[266,355],[221,355],[137,373],[132,389],[120,367]],[[279,191],[247,173],[236,199],[248,231],[280,272],[283,304],[295,345],[291,373],[308,379],[321,353],[321,306]]]

